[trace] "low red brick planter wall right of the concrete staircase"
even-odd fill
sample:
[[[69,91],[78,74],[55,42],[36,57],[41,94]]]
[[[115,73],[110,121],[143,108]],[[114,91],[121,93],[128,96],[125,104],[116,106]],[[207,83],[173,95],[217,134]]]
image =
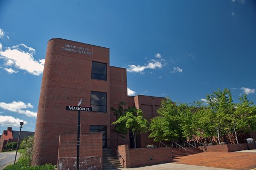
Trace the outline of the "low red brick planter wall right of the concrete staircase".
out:
[[[126,168],[170,163],[173,160],[171,148],[128,149],[127,146],[122,145],[118,146],[118,151],[125,159]],[[122,163],[122,159],[119,160]]]

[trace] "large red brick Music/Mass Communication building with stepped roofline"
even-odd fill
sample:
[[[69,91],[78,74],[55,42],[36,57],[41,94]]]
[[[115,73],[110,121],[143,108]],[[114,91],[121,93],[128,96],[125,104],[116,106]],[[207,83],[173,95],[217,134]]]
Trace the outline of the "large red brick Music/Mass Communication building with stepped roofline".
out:
[[[117,108],[123,101],[127,104],[125,107],[142,109],[145,118],[149,120],[157,114],[156,110],[164,99],[127,96],[126,69],[109,65],[109,48],[60,38],[49,40],[39,97],[33,165],[56,164],[58,154],[63,161],[67,158],[68,152],[64,153],[63,150],[72,152],[76,149],[76,139],[73,145],[70,139],[77,132],[77,111],[66,111],[66,106],[77,106],[80,98],[83,98],[81,106],[90,106],[93,110],[81,112],[81,148],[83,150],[86,145],[98,143],[90,151],[94,154],[89,155],[93,160],[85,162],[100,162],[102,151],[97,147],[99,141],[100,145],[102,143],[101,148],[111,147],[113,150],[118,145],[134,146],[133,139],[128,135],[127,138],[118,138],[111,131],[115,116],[110,107]],[[87,141],[85,136],[90,135],[89,132],[101,133]],[[148,139],[146,133],[139,135],[137,146],[145,147],[147,144],[153,144],[153,139]]]

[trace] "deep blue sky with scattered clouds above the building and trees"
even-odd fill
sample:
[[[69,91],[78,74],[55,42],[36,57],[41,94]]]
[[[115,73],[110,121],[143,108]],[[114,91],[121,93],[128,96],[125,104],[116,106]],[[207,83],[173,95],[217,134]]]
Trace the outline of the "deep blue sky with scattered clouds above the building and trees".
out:
[[[256,101],[256,2],[0,0],[0,134],[34,131],[47,41],[110,48],[130,95]]]

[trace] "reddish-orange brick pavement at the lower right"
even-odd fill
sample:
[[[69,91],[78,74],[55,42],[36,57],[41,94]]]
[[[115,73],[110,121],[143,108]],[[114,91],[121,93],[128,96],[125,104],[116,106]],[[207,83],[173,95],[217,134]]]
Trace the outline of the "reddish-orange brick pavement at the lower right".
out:
[[[173,159],[176,164],[197,165],[227,169],[256,168],[256,152],[203,152]]]

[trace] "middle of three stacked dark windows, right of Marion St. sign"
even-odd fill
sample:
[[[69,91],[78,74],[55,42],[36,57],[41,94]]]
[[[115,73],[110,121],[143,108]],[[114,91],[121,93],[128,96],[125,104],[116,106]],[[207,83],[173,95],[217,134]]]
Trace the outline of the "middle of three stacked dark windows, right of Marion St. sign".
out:
[[[106,92],[91,92],[91,107],[94,112],[107,112]]]

